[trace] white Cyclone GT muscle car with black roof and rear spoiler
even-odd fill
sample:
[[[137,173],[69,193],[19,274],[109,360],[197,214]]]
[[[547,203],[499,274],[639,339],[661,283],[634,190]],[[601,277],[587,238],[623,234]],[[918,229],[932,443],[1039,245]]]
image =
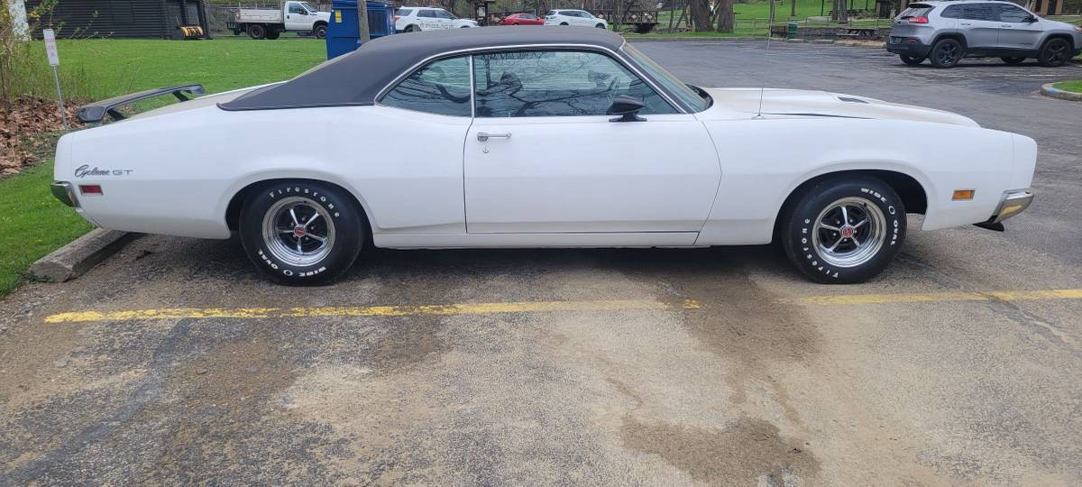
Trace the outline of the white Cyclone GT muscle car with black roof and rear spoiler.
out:
[[[185,91],[201,88],[79,117]],[[312,130],[282,143],[298,119]],[[907,213],[1002,229],[1035,160],[1032,139],[947,111],[702,89],[612,32],[489,27],[375,39],[286,82],[66,134],[53,194],[104,228],[238,234],[290,285],[327,282],[369,246],[771,241],[817,281],[857,282],[898,253]]]

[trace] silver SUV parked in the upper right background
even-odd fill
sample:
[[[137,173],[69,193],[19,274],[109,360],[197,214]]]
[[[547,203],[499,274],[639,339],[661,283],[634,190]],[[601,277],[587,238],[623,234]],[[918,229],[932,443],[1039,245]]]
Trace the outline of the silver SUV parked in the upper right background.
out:
[[[1000,57],[1007,64],[1035,57],[1042,66],[1063,66],[1082,52],[1082,27],[1005,1],[910,3],[890,24],[886,50],[909,65],[925,58],[952,67],[962,57]]]

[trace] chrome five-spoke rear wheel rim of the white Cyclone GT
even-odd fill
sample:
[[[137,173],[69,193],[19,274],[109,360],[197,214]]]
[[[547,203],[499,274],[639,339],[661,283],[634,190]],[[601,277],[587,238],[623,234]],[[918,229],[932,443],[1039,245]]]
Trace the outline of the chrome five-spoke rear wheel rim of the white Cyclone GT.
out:
[[[324,207],[306,198],[283,198],[263,215],[263,241],[282,262],[314,265],[334,247],[334,222]]]

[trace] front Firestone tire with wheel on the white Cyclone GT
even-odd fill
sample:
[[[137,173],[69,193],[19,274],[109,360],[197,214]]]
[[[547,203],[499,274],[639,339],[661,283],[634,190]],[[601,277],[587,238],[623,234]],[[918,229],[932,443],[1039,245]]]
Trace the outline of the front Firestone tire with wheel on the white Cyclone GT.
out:
[[[875,277],[906,239],[906,208],[886,183],[869,176],[823,180],[804,192],[779,226],[790,262],[821,284]]]

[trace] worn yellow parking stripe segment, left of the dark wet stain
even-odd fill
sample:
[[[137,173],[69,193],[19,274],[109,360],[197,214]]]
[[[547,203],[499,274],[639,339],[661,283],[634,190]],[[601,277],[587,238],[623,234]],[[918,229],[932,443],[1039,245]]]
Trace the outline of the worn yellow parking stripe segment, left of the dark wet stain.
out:
[[[479,315],[492,313],[537,313],[562,311],[619,311],[696,308],[694,300],[672,305],[659,301],[533,301],[511,303],[435,304],[423,306],[320,306],[320,307],[170,307],[115,312],[60,313],[45,317],[45,323],[130,321],[137,319],[182,318],[299,318],[316,316],[408,316],[408,315]]]

